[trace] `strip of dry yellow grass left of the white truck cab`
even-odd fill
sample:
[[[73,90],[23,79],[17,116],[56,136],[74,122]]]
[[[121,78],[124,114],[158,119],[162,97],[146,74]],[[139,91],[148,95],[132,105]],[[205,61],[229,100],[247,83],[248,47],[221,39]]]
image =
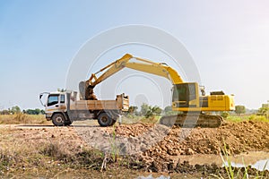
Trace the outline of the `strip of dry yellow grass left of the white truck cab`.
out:
[[[46,124],[45,115],[0,115],[0,124]]]

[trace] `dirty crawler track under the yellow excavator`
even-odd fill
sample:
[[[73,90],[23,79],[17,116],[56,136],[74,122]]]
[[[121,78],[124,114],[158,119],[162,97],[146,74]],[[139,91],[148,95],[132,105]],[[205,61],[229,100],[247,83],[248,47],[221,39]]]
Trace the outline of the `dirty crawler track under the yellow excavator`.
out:
[[[208,127],[217,128],[221,126],[223,118],[221,115],[204,115],[204,114],[178,114],[165,115],[160,119],[160,124],[171,127],[179,125],[185,128]]]

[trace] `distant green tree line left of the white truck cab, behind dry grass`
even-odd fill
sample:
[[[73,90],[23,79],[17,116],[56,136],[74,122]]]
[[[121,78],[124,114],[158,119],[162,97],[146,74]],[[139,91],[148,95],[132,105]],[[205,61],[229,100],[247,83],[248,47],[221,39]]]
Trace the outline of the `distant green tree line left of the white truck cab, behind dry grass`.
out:
[[[21,108],[18,106],[0,110],[0,115],[16,115],[16,114],[45,115],[45,111],[39,108],[21,110]]]

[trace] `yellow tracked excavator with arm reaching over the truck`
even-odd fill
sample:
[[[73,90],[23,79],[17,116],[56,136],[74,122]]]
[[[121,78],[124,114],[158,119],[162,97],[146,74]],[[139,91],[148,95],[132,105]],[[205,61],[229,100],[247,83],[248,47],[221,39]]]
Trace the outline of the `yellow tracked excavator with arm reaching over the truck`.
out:
[[[131,60],[132,59],[132,60]],[[197,82],[184,82],[178,72],[164,63],[134,57],[126,54],[117,61],[108,64],[99,72],[91,74],[87,81],[81,81],[79,85],[82,99],[96,100],[93,89],[100,82],[124,68],[136,71],[148,72],[171,81],[173,84],[172,110],[178,111],[177,115],[165,115],[160,119],[160,124],[172,126],[201,126],[218,127],[223,120],[221,115],[209,115],[211,112],[231,111],[235,109],[232,95],[225,95],[222,91],[211,92],[205,96],[203,88]],[[100,74],[98,77],[97,75]],[[200,91],[202,95],[200,95]]]

